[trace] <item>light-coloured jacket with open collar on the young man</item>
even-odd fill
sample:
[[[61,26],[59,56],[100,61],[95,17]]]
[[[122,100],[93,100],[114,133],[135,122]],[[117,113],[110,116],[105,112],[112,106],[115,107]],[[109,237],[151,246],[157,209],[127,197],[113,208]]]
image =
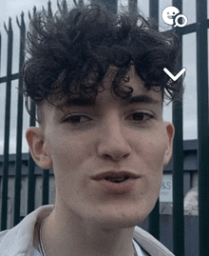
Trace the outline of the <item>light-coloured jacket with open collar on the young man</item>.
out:
[[[30,256],[33,249],[35,224],[46,218],[54,206],[39,207],[11,229],[0,232],[0,256]],[[134,239],[151,256],[174,256],[165,246],[139,226],[135,227]]]

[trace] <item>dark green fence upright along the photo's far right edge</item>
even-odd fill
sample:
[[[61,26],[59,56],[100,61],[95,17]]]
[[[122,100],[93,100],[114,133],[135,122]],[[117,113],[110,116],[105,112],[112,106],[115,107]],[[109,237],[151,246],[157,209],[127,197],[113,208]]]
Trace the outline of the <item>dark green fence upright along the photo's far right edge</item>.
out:
[[[197,0],[199,256],[209,255],[209,126],[207,1]]]

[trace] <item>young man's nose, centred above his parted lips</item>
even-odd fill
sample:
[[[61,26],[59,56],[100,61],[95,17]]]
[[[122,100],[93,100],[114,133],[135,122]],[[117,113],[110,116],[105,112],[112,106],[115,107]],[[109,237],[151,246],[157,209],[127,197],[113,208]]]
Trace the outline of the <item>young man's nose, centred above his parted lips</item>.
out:
[[[131,153],[131,148],[125,135],[127,132],[119,120],[105,122],[99,135],[99,155],[113,161],[126,158]]]

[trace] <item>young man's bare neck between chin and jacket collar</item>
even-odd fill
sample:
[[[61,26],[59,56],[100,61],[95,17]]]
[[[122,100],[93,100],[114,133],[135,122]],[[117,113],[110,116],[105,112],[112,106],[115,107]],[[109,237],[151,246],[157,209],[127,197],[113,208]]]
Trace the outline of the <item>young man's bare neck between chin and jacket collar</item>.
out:
[[[133,256],[134,227],[104,229],[77,218],[65,217],[55,209],[42,223],[42,243],[46,256]],[[38,228],[37,228],[38,229]],[[37,232],[36,232],[37,233]],[[37,247],[37,235],[34,240]]]

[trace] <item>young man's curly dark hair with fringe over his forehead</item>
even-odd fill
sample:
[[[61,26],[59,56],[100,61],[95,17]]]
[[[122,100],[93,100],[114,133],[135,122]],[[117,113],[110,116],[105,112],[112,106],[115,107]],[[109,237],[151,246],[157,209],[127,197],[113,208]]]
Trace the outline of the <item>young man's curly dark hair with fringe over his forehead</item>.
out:
[[[75,1],[74,1],[75,2]],[[76,4],[76,2],[75,2]],[[55,14],[36,12],[28,30],[28,60],[23,68],[24,93],[41,105],[59,95],[72,99],[95,99],[103,90],[107,69],[118,71],[112,91],[127,98],[132,90],[125,86],[128,70],[135,66],[147,89],[162,91],[162,98],[174,100],[182,92],[182,81],[169,80],[163,68],[180,71],[180,41],[173,31],[160,32],[142,15],[113,13],[100,5],[81,6],[68,10],[66,1]]]

